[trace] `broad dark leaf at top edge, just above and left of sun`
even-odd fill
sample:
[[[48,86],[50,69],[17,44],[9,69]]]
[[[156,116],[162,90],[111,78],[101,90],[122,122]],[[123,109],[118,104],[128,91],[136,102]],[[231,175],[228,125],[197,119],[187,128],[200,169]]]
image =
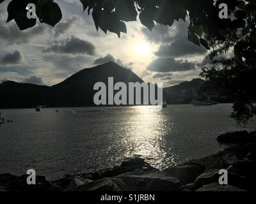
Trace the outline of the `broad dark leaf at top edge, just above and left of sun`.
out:
[[[132,0],[118,0],[116,13],[125,22],[136,21],[138,15]]]

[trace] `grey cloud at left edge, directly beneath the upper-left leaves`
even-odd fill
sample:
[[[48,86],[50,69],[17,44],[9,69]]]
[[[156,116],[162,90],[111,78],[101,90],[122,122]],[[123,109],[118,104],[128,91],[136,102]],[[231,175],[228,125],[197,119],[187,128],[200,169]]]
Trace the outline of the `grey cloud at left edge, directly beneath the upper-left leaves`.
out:
[[[34,38],[44,34],[45,27],[43,25],[36,25],[26,31],[20,31],[15,22],[6,24],[6,17],[0,15],[0,39],[6,44],[21,44],[28,43]]]

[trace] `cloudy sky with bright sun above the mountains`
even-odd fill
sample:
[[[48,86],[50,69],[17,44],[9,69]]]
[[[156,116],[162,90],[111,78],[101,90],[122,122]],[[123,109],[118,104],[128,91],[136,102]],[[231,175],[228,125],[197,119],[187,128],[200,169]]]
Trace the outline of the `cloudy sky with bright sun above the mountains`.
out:
[[[129,22],[127,34],[97,32],[92,15],[83,13],[78,0],[59,0],[63,18],[54,28],[37,21],[19,31],[6,24],[7,5],[0,4],[0,82],[58,84],[84,68],[115,61],[145,82],[165,87],[199,78],[207,66],[207,50],[188,41],[188,22],[172,27],[157,24],[150,32],[140,21]]]

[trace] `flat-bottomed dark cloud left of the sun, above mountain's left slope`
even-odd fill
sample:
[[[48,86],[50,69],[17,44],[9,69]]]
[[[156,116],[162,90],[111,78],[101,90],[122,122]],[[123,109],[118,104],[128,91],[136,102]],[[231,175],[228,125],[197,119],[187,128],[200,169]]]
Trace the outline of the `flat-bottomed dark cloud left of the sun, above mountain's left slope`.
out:
[[[85,40],[72,36],[66,41],[54,43],[43,52],[55,52],[59,54],[88,54],[95,55],[95,46]]]

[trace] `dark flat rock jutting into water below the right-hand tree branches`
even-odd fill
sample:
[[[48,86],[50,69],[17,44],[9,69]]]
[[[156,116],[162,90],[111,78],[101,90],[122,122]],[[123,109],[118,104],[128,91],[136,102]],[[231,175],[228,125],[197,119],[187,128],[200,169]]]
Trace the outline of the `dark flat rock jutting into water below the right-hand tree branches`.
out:
[[[246,143],[250,141],[250,135],[247,131],[237,131],[234,133],[225,133],[218,136],[217,141],[225,144]]]

